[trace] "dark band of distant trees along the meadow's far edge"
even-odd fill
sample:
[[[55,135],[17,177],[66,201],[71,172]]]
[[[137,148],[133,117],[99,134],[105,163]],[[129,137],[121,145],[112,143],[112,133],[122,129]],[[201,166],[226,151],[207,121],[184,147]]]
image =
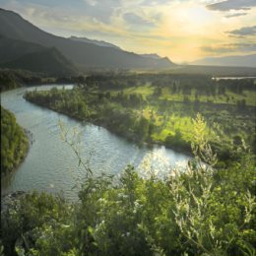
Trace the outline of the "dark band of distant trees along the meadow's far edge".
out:
[[[125,89],[150,84],[153,87],[167,87],[172,94],[190,95],[194,89],[198,95],[218,96],[225,91],[242,94],[243,91],[255,91],[254,79],[214,80],[210,76],[188,74],[131,74],[131,75],[92,75],[81,80],[81,84],[90,88]]]

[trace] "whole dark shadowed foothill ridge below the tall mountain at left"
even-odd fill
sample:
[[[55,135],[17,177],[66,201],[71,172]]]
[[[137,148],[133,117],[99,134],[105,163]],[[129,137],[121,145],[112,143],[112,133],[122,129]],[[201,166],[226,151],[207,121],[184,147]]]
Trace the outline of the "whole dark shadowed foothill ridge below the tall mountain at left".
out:
[[[75,75],[75,66],[56,48],[0,36],[0,67],[49,75]]]

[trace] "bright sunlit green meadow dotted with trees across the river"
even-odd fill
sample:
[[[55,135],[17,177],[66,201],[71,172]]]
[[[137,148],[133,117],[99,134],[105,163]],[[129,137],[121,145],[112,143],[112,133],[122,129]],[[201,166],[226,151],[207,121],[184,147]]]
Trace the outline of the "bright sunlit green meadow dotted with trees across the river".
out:
[[[159,96],[154,96],[156,88],[146,83],[121,90],[108,89],[104,92],[110,93],[111,96],[118,96],[120,93],[128,97],[142,96],[147,103],[131,108],[138,115],[149,121],[153,120],[156,129],[152,134],[152,140],[161,144],[165,143],[167,136],[174,137],[177,131],[186,143],[193,141],[193,119],[197,111],[192,107],[196,99],[200,101],[198,112],[205,116],[208,123],[209,141],[222,144],[226,148],[240,146],[244,142],[252,145],[255,141],[256,91],[243,90],[242,94],[237,94],[225,90],[224,95],[207,96],[199,95],[198,90],[192,88],[191,93],[184,96],[181,93],[173,94],[170,87],[160,87]],[[237,102],[242,100],[245,106],[241,110]],[[160,102],[164,102],[163,106]],[[186,107],[185,104],[190,107]]]

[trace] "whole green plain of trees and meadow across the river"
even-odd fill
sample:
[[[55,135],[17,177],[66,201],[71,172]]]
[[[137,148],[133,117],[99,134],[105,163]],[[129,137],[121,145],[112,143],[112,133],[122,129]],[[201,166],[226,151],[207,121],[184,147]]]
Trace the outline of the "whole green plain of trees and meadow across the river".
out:
[[[192,75],[91,76],[72,91],[31,92],[36,104],[90,121],[138,143],[190,151],[193,118],[207,119],[220,160],[236,159],[244,143],[255,151],[256,85]]]

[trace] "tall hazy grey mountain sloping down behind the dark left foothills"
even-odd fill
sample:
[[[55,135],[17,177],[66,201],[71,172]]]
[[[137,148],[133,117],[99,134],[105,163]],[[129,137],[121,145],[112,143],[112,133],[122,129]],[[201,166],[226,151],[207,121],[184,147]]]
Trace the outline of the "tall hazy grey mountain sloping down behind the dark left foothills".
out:
[[[87,68],[160,69],[174,66],[167,58],[153,59],[114,47],[98,46],[86,41],[43,32],[12,11],[0,10],[0,34],[9,38],[55,47],[67,59]]]

